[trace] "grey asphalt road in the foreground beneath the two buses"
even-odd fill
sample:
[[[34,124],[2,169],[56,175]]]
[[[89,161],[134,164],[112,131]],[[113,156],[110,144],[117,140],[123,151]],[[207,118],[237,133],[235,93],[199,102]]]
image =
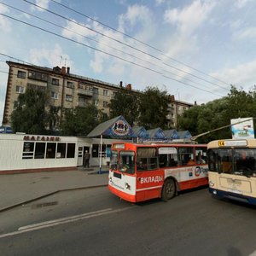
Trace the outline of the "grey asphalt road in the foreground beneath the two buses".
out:
[[[255,215],[207,189],[140,204],[77,190],[2,212],[0,254],[256,255]]]

